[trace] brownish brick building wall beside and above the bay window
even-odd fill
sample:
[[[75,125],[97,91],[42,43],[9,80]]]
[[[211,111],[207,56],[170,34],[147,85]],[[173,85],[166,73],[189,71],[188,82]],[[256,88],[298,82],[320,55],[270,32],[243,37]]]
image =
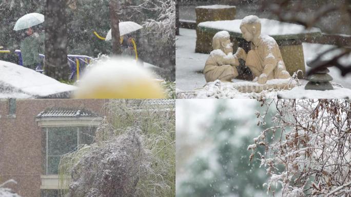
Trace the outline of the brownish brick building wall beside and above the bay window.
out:
[[[8,117],[8,100],[0,100],[0,183],[13,179],[10,184],[24,197],[40,196],[42,174],[42,132],[35,116],[49,107],[84,107],[104,115],[106,100],[16,100],[16,116]]]

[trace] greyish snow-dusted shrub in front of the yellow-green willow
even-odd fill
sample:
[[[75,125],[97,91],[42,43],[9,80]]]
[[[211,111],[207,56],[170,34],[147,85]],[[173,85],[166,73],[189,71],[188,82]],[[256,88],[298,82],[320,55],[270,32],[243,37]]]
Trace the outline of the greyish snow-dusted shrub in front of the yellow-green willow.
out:
[[[130,128],[91,145],[70,169],[66,196],[134,196],[138,181],[151,170],[140,132]]]

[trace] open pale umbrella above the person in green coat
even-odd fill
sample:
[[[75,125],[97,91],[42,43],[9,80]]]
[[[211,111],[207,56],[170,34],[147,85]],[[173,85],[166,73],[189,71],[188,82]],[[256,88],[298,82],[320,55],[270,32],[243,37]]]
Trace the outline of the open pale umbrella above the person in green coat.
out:
[[[18,31],[21,29],[27,29],[44,22],[44,15],[40,13],[29,13],[19,18],[13,28]]]

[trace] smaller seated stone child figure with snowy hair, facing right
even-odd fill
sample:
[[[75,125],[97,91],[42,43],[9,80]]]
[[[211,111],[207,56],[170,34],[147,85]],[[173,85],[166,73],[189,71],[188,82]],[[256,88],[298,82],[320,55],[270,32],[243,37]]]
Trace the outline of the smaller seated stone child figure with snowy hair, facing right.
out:
[[[205,63],[204,74],[206,82],[216,80],[230,82],[238,76],[238,56],[246,55],[242,48],[236,54],[232,54],[233,48],[230,35],[227,31],[220,31],[212,38],[212,49]]]

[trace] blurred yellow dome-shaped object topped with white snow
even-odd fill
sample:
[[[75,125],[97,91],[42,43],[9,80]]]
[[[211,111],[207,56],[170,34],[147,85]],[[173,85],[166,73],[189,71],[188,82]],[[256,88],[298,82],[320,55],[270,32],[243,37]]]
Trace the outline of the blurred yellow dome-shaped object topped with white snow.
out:
[[[158,81],[135,61],[101,61],[82,75],[75,99],[165,99]]]

